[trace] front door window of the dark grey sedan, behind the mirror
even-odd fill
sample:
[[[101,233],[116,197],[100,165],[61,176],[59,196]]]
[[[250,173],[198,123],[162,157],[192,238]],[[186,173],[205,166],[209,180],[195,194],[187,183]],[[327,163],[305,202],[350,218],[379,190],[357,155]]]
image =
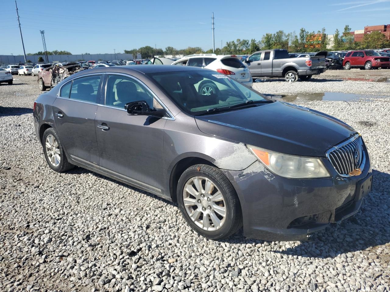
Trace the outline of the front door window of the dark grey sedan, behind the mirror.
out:
[[[109,75],[106,86],[106,105],[124,109],[125,104],[145,100],[149,107],[162,108],[153,95],[137,80],[123,75]]]

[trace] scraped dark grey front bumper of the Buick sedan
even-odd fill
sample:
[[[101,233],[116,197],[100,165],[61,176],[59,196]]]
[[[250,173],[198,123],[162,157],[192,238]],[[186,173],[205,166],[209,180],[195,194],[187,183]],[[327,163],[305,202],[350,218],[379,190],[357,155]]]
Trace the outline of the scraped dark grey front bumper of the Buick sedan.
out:
[[[362,174],[348,178],[335,171],[330,171],[331,178],[282,178],[260,162],[243,171],[225,171],[240,199],[244,235],[269,241],[303,241],[308,234],[354,215],[371,190],[368,155],[366,159]],[[333,169],[328,160],[323,162],[328,170]]]

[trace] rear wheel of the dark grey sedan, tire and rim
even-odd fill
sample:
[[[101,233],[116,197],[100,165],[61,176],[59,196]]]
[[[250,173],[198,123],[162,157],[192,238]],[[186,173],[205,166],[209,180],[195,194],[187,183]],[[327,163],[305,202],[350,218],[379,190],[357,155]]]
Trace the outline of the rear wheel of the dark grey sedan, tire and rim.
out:
[[[74,167],[73,164],[68,162],[57,132],[53,128],[48,128],[44,131],[42,146],[46,162],[53,171],[64,172]]]

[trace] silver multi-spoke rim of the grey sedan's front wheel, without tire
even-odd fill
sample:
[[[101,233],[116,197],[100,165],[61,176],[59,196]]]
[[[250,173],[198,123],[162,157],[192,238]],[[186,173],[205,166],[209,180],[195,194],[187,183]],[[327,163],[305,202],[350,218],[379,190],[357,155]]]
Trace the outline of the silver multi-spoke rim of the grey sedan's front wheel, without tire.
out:
[[[225,200],[209,178],[194,176],[188,179],[183,189],[183,203],[190,219],[203,230],[215,231],[225,223]]]

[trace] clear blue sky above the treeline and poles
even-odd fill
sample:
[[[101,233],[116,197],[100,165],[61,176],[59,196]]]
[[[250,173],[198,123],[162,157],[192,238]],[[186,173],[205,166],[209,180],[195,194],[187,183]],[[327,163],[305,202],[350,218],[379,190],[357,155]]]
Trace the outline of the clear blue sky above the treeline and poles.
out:
[[[123,53],[153,46],[212,47],[211,12],[215,16],[215,46],[236,39],[260,40],[267,32],[299,33],[326,28],[332,34],[348,24],[390,24],[390,0],[345,1],[130,1],[17,0],[26,53],[48,51]],[[1,55],[23,54],[14,0],[0,0]],[[6,41],[5,41],[6,40]]]

